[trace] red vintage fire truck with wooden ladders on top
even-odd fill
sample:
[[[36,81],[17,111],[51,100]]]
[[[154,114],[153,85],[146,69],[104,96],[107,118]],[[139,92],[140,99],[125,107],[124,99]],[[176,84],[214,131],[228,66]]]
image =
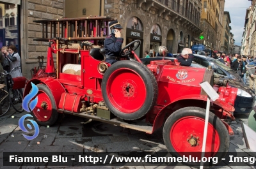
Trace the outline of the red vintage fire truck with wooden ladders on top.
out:
[[[42,24],[42,38],[35,40],[51,42],[46,68],[35,70],[24,91],[24,96],[29,94],[31,82],[39,89],[32,112],[36,122],[51,126],[58,115],[71,114],[145,133],[163,126],[164,143],[173,156],[201,152],[207,94],[199,84],[208,81],[220,98],[211,101],[207,156],[225,157],[229,135],[233,135],[226,121],[235,119],[232,105],[237,89],[214,79],[211,69],[184,67],[166,60],[145,66],[134,52],[140,41],[122,48],[128,50],[121,54],[124,60],[108,64],[100,41],[105,38],[102,31],[108,32],[102,23],[111,20],[86,17],[34,21]],[[52,53],[56,54],[56,70]]]

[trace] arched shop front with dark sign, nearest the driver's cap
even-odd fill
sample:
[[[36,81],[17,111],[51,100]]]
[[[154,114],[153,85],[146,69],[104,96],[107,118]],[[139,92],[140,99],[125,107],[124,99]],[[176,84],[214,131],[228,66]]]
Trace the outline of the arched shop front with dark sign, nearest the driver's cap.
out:
[[[141,24],[140,18],[138,17],[131,17],[127,23],[126,27],[126,44],[128,45],[134,40],[140,40],[141,44],[135,50],[135,53],[139,57],[143,57],[143,25]]]

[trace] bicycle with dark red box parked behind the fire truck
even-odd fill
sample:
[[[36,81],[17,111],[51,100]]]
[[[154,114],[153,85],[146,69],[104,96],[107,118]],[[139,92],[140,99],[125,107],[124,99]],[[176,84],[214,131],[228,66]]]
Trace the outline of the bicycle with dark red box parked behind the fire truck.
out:
[[[4,77],[6,77],[5,79],[7,86],[10,87],[8,92],[10,103],[17,112],[21,113],[24,111],[24,109],[22,108],[23,94],[19,89],[24,88],[28,80],[26,77],[12,78],[12,71],[18,70],[19,68],[20,66],[13,68],[10,73],[2,74],[4,75]]]

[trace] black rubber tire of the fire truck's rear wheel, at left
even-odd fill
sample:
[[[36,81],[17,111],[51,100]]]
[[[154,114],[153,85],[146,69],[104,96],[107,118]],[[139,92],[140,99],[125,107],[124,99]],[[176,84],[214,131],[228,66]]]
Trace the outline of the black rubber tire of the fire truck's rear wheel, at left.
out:
[[[41,126],[52,126],[57,121],[58,115],[59,115],[59,113],[57,112],[57,107],[56,107],[56,104],[55,104],[55,101],[54,101],[54,97],[52,96],[52,93],[51,93],[50,89],[47,87],[47,85],[38,84],[36,86],[38,87],[39,91],[44,91],[45,94],[47,94],[47,96],[51,99],[52,115],[51,115],[51,118],[49,119],[49,121],[40,121],[39,119],[36,118],[36,115],[34,114],[33,111],[31,112],[31,114],[33,115],[35,121],[38,124],[40,124]],[[38,100],[40,100],[40,99],[38,98]]]

